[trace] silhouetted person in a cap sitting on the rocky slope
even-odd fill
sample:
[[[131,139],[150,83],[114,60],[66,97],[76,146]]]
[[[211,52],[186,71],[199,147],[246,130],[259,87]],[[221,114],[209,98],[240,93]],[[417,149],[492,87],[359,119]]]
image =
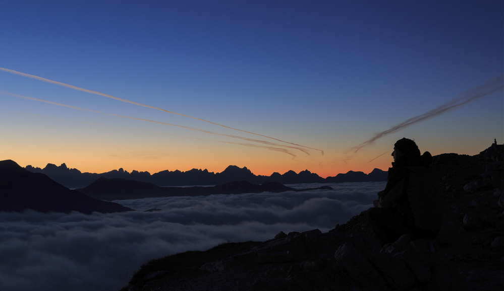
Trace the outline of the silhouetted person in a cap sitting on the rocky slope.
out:
[[[378,193],[377,208],[368,220],[378,238],[392,243],[404,234],[412,239],[435,238],[442,225],[442,204],[429,165],[432,156],[420,156],[415,141],[402,138],[394,144],[394,163],[388,169],[385,190]]]

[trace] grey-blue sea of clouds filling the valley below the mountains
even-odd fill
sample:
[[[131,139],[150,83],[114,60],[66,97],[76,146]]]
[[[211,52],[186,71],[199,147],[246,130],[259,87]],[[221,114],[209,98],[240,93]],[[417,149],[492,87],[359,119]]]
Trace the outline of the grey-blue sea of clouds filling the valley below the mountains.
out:
[[[0,212],[0,290],[117,290],[154,258],[327,232],[370,208],[385,182],[289,186],[322,185],[334,190],[116,200],[138,211],[111,214]]]

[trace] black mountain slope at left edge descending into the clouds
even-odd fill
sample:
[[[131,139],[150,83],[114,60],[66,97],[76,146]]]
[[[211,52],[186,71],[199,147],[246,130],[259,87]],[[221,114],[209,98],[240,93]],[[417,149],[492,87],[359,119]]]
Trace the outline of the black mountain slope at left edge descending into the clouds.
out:
[[[58,171],[57,169],[52,169]],[[12,160],[0,161],[0,211],[79,211],[90,214],[133,210],[70,190],[41,173],[31,173]]]

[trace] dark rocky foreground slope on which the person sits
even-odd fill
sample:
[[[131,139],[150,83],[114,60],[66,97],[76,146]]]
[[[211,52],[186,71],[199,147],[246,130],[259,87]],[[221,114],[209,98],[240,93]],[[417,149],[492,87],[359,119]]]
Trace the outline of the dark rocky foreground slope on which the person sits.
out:
[[[279,233],[145,263],[122,290],[502,290],[503,145],[435,156],[444,198],[436,240],[382,246],[366,212],[328,233]]]

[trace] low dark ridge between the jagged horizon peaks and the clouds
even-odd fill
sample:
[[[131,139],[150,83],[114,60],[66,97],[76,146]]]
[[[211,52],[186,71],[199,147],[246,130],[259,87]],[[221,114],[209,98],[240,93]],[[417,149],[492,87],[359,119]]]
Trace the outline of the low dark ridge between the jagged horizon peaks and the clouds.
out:
[[[323,186],[315,189],[332,190],[331,187]],[[254,185],[248,181],[229,182],[213,187],[159,187],[152,183],[120,179],[98,178],[89,186],[78,189],[86,195],[101,200],[124,200],[140,199],[147,197],[170,197],[170,196],[205,196],[212,194],[243,194],[261,192],[285,192],[306,191],[309,189],[294,189],[278,182],[264,182],[262,185]]]

